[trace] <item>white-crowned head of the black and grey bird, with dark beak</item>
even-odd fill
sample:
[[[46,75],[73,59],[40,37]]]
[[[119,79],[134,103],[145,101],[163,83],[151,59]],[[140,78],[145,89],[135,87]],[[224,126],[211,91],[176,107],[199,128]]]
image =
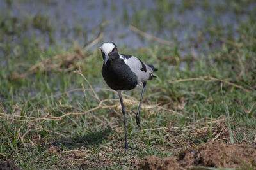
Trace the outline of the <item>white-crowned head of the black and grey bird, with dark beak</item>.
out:
[[[119,57],[118,50],[115,43],[113,42],[103,43],[100,46],[100,50],[102,53],[102,58],[104,60],[104,65],[106,65],[108,59],[115,59]]]

